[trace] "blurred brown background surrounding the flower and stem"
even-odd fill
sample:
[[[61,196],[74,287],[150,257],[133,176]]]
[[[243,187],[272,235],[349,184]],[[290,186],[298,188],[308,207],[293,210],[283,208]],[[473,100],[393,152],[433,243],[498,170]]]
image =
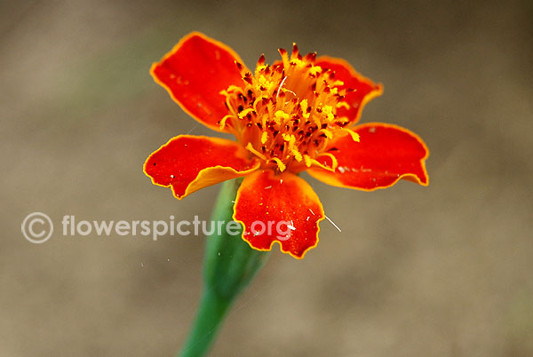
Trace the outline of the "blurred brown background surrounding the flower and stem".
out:
[[[172,136],[211,134],[148,75],[193,30],[250,66],[292,42],[347,59],[385,84],[362,122],[431,149],[427,188],[309,178],[342,233],[323,221],[302,261],[275,251],[213,356],[533,355],[533,4],[414,0],[3,1],[0,355],[179,350],[203,238],[68,238],[60,220],[209,218],[218,186],[179,202],[142,172]],[[34,211],[56,226],[44,244],[20,233]]]

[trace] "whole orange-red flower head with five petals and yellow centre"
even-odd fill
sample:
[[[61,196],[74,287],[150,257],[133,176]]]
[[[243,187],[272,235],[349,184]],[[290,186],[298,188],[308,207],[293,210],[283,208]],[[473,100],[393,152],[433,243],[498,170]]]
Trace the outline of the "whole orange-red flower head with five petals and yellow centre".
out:
[[[280,54],[272,66],[262,55],[252,73],[225,44],[199,33],[184,37],[151,74],[189,115],[236,141],[179,135],[147,158],[144,171],[178,199],[246,177],[234,208],[243,239],[256,250],[279,242],[283,252],[303,258],[318,242],[324,211],[298,172],[365,191],[400,178],[426,186],[428,150],[395,125],[354,126],[383,90],[346,61],[302,56],[296,44]],[[254,221],[291,222],[290,238],[272,230],[251,234]]]

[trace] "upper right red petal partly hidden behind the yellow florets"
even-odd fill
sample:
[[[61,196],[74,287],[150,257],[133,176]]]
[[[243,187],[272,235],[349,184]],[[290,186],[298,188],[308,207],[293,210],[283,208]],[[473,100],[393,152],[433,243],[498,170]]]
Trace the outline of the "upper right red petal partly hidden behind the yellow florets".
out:
[[[374,99],[383,93],[381,84],[374,84],[370,79],[355,72],[354,67],[350,66],[344,59],[322,56],[316,59],[316,66],[330,68],[335,71],[335,79],[344,82],[343,85],[338,86],[338,89],[350,88],[355,90],[346,94],[344,99],[349,108],[339,107],[337,109],[338,116],[346,116],[352,123],[359,121],[362,108],[370,99]]]

